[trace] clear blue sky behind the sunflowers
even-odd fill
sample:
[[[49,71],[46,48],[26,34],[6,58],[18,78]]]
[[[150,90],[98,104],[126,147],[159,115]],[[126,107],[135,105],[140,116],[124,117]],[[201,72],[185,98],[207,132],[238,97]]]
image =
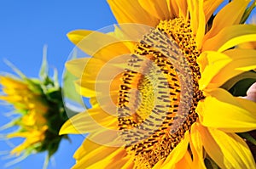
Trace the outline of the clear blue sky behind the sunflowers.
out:
[[[26,76],[37,77],[43,47],[47,44],[49,66],[57,68],[61,74],[74,47],[66,37],[67,32],[76,29],[97,30],[113,23],[115,20],[105,0],[0,0],[0,71],[12,72],[3,63],[3,59],[9,59]],[[7,111],[0,105],[0,126],[9,122],[3,116]],[[55,154],[55,166],[49,164],[49,169],[73,166],[73,153],[84,137],[73,135],[71,139],[72,144],[61,142]],[[0,153],[5,149],[10,149],[9,145],[0,141]],[[31,155],[8,168],[42,168],[44,155]],[[0,155],[1,169],[9,161],[3,160],[4,156]]]

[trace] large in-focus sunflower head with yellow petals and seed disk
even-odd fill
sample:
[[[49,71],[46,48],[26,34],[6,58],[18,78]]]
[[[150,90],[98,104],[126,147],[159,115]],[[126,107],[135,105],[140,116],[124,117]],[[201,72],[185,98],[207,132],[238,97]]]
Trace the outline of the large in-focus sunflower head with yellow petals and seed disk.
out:
[[[73,168],[255,168],[236,133],[255,130],[256,104],[223,87],[256,67],[254,49],[236,48],[256,39],[242,24],[250,1],[216,15],[223,1],[108,3],[113,32],[67,35],[92,56],[67,62],[91,104],[61,128],[90,133]]]

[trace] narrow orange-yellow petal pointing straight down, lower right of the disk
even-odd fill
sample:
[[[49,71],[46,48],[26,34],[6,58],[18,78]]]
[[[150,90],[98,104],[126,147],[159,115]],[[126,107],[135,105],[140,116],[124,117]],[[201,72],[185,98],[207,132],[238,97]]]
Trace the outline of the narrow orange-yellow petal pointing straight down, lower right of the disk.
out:
[[[193,166],[196,166],[198,169],[206,169],[198,123],[194,123],[191,127],[189,145],[193,154]]]

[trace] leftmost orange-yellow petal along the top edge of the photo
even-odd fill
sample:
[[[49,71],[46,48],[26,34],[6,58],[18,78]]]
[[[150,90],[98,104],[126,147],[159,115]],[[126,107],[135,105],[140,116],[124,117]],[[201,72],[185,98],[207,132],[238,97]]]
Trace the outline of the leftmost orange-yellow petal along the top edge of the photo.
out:
[[[152,14],[149,14],[137,0],[108,0],[108,4],[119,23],[138,23],[155,26],[159,23]]]

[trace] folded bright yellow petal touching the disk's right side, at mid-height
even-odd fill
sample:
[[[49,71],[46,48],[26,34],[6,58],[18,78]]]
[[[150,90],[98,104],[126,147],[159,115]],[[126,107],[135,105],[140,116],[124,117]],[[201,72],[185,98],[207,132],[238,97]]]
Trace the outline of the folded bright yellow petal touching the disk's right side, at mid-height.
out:
[[[200,89],[204,89],[212,82],[212,78],[218,75],[218,72],[228,65],[232,59],[226,54],[207,51],[202,53],[197,59],[200,65],[201,79],[199,80]],[[226,73],[226,71],[225,71]]]

